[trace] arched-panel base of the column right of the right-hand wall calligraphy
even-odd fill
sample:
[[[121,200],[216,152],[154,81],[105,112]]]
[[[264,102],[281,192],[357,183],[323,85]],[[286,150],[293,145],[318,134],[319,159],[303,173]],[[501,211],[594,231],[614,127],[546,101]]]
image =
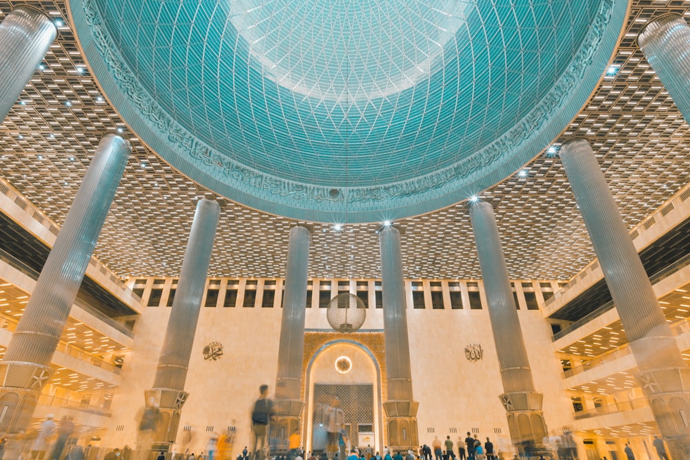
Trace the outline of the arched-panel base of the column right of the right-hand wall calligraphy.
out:
[[[508,417],[511,441],[522,454],[539,455],[549,452],[543,445],[546,423],[542,413],[543,395],[538,392],[512,392],[500,396]]]

